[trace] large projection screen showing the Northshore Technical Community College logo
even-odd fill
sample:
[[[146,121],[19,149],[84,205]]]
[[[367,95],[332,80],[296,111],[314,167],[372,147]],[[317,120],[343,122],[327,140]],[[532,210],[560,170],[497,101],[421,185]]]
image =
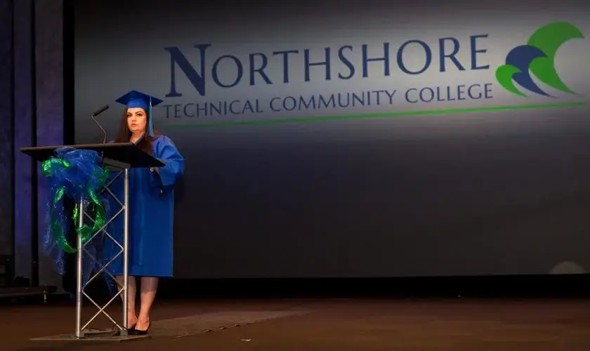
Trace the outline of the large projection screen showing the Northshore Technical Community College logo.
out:
[[[77,1],[76,141],[164,100],[175,277],[585,272],[589,8]]]

